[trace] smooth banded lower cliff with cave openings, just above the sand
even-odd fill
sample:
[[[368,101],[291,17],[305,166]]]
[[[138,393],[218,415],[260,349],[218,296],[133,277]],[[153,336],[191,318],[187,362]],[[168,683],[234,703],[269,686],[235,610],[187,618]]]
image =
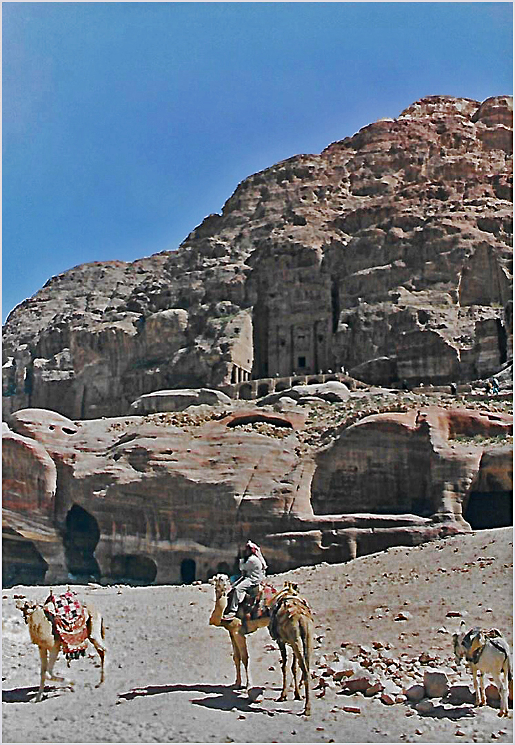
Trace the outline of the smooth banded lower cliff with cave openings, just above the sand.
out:
[[[243,403],[83,421],[19,410],[3,435],[4,584],[191,582],[233,571],[249,537],[273,572],[341,562],[470,530],[470,500],[474,519],[508,524],[513,452],[492,441],[511,416],[378,414],[324,449],[306,448],[308,422]]]

